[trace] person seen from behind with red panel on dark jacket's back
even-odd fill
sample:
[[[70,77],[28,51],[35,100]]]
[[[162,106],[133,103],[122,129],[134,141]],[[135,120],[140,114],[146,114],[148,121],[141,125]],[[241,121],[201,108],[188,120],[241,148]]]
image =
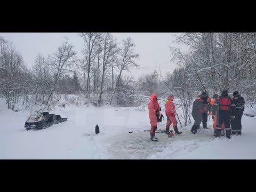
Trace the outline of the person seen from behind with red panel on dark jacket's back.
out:
[[[220,137],[221,133],[221,125],[224,122],[226,129],[226,137],[230,139],[231,135],[231,127],[230,127],[230,117],[231,114],[234,114],[234,106],[233,99],[228,96],[228,91],[224,90],[221,93],[219,99],[217,99],[214,103],[213,114],[217,111],[217,127],[216,127],[216,135],[215,137]],[[234,118],[234,116],[232,116]]]

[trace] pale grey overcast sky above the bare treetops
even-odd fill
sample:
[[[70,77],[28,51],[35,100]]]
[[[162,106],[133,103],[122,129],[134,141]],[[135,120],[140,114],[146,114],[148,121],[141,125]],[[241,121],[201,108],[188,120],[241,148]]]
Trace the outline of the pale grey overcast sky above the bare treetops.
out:
[[[136,45],[135,52],[140,54],[138,64],[140,70],[133,69],[132,75],[139,77],[141,74],[147,74],[159,69],[161,72],[172,72],[176,67],[170,63],[171,55],[169,46],[177,46],[173,44],[173,34],[180,33],[112,33],[117,37],[118,43],[123,38],[131,37]],[[17,51],[22,54],[28,66],[33,66],[35,57],[38,53],[45,56],[52,54],[57,50],[64,37],[70,39],[70,43],[74,45],[78,56],[81,55],[83,47],[83,39],[77,33],[0,33],[6,40],[11,40]],[[156,63],[155,63],[156,62]]]

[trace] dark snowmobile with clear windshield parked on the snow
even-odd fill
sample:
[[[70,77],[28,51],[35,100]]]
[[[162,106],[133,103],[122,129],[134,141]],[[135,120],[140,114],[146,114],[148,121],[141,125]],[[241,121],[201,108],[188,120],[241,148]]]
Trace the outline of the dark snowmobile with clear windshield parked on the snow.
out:
[[[40,105],[33,105],[30,110],[30,116],[25,123],[26,130],[39,130],[67,121],[68,118],[62,118],[60,115],[49,114],[49,111]]]

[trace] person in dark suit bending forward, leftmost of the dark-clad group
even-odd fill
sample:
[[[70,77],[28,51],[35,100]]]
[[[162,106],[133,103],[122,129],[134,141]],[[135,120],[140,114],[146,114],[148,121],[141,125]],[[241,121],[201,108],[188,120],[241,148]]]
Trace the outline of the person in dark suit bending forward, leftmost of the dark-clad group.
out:
[[[193,108],[192,108],[191,114],[195,120],[195,123],[190,130],[193,134],[197,133],[197,130],[199,129],[199,126],[202,121],[203,101],[204,100],[201,99],[200,95],[198,95],[196,100],[193,102]]]

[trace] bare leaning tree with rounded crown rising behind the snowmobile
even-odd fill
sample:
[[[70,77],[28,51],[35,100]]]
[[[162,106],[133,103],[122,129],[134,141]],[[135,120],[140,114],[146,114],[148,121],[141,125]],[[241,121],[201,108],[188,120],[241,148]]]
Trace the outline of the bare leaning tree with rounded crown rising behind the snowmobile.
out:
[[[45,105],[48,105],[60,76],[69,71],[70,67],[76,62],[75,55],[74,46],[69,44],[68,39],[65,38],[65,41],[58,47],[57,52],[50,57],[50,65],[54,70],[54,83],[50,94],[45,100]]]

